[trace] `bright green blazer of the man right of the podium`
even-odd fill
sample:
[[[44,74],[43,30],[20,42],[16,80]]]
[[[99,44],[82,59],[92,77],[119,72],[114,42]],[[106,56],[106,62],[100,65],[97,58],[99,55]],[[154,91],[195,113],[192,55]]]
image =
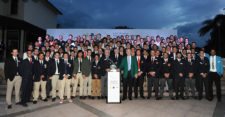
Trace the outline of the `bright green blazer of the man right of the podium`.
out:
[[[123,57],[120,64],[120,69],[123,70],[123,77],[127,78],[128,76],[128,61],[127,56]],[[137,59],[136,56],[131,56],[131,77],[134,78],[138,73]]]

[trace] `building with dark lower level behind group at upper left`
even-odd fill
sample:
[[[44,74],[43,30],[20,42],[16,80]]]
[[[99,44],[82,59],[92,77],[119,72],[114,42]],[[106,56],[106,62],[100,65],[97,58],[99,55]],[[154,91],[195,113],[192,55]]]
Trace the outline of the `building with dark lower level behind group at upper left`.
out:
[[[47,28],[57,28],[58,15],[48,0],[0,0],[0,60],[12,48],[22,54],[38,36],[45,37]]]

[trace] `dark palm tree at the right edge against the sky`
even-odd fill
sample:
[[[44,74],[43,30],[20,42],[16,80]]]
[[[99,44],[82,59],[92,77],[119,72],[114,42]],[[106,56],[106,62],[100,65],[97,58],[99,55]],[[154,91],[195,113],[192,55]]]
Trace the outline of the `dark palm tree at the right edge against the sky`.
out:
[[[216,15],[214,19],[205,20],[203,27],[199,29],[199,35],[204,36],[210,33],[206,51],[216,49],[217,54],[225,57],[225,15]]]

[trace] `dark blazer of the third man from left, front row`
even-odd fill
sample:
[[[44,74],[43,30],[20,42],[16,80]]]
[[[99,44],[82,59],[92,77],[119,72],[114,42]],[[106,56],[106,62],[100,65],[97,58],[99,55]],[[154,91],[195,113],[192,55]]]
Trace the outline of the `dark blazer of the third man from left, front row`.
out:
[[[34,82],[39,82],[41,75],[44,75],[43,81],[47,80],[47,62],[43,61],[41,64],[39,61],[34,62]]]

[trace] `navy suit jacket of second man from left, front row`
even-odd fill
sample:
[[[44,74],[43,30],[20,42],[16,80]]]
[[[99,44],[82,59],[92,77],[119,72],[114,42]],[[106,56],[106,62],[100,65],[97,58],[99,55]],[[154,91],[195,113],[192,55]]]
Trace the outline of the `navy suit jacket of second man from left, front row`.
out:
[[[28,58],[24,59],[22,61],[22,64],[20,65],[21,69],[21,76],[24,79],[32,79],[33,80],[33,75],[34,75],[34,61],[30,62]]]

